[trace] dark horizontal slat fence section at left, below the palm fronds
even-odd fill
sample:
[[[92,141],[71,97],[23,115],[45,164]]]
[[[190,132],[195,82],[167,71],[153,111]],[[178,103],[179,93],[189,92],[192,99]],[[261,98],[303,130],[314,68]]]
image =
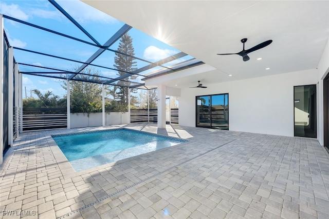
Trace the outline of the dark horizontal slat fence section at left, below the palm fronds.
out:
[[[23,108],[23,131],[67,128],[66,108]]]

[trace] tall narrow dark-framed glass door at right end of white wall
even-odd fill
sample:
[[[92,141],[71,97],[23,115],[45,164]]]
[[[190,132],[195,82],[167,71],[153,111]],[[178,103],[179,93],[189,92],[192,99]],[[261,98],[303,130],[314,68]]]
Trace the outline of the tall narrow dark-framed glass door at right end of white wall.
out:
[[[299,137],[317,137],[316,85],[294,87],[294,132]]]

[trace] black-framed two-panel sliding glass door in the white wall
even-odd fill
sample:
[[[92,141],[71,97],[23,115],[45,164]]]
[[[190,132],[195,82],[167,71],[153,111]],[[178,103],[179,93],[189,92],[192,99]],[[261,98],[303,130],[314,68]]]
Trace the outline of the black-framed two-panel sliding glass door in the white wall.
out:
[[[228,93],[196,96],[196,127],[228,130]]]

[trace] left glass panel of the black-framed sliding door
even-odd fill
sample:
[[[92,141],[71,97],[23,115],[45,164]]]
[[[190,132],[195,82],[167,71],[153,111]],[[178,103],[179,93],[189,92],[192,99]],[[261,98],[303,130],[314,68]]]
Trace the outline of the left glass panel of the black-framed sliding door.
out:
[[[210,127],[210,98],[209,96],[197,96],[196,99],[196,126]]]

